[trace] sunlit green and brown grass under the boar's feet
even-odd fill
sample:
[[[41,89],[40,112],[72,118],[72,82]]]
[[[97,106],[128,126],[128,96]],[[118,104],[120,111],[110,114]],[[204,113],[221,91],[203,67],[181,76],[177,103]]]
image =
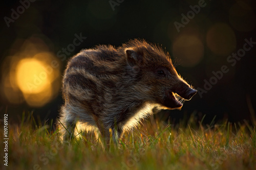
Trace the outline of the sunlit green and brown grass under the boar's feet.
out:
[[[256,130],[246,123],[197,127],[191,119],[177,128],[148,119],[107,151],[92,134],[61,144],[47,124],[35,127],[28,118],[8,125],[8,166],[1,160],[1,169],[256,169]]]

